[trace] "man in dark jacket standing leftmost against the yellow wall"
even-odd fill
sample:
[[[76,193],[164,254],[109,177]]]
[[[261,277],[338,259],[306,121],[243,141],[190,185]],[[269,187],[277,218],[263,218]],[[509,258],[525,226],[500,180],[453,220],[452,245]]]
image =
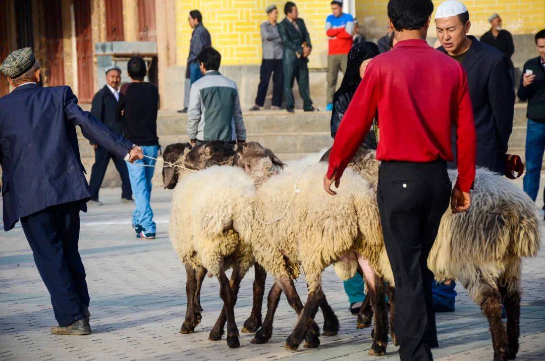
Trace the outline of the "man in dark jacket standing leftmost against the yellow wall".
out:
[[[194,82],[201,79],[202,74],[199,70],[197,55],[205,47],[212,46],[210,33],[203,25],[203,16],[199,10],[191,10],[189,12],[189,26],[193,29],[191,33],[191,41],[189,43],[189,57],[187,57],[187,66],[185,68],[185,87],[184,87],[184,109],[178,113],[187,112],[189,106],[189,93]]]

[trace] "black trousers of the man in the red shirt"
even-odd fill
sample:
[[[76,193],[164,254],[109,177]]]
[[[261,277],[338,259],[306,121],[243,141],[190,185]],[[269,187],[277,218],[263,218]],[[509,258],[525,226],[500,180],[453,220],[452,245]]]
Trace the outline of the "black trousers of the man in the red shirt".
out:
[[[377,201],[399,300],[394,325],[402,360],[432,360],[430,348],[438,346],[427,259],[450,194],[443,160],[380,165]]]

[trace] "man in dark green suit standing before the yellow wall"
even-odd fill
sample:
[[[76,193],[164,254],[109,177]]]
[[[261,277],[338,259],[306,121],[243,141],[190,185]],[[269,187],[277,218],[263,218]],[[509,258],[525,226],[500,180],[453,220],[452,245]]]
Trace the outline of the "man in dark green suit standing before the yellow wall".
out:
[[[284,20],[278,24],[278,33],[284,43],[282,65],[284,69],[284,94],[286,95],[286,110],[294,112],[295,100],[293,99],[293,82],[297,79],[299,93],[303,98],[303,110],[316,112],[318,109],[312,106],[310,99],[310,87],[308,85],[308,56],[312,51],[310,35],[305,22],[299,19],[299,13],[295,3],[288,1],[284,5]]]

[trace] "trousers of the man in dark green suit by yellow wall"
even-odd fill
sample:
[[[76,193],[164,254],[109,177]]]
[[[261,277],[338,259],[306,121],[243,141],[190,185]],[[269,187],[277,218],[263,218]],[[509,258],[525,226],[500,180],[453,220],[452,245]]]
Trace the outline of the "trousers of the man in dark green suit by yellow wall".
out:
[[[293,63],[284,62],[284,96],[286,97],[286,108],[294,109],[295,99],[293,98],[293,83],[297,80],[299,94],[303,99],[303,109],[312,109],[310,99],[310,85],[308,83],[308,66],[304,59],[295,59]]]

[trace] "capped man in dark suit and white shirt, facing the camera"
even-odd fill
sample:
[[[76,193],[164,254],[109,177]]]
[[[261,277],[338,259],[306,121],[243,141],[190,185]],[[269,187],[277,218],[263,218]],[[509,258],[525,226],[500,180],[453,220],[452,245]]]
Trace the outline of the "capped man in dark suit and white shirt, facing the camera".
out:
[[[116,109],[119,101],[119,83],[121,82],[121,69],[117,65],[112,65],[106,68],[106,85],[96,92],[93,103],[91,105],[91,114],[99,119],[113,133],[122,134],[121,123],[116,120]],[[121,177],[121,201],[123,203],[134,202],[132,200],[131,182],[129,179],[129,171],[125,161],[108,152],[104,147],[101,147],[93,142],[90,142],[95,148],[95,164],[91,169],[91,179],[89,180],[89,188],[91,190],[91,199],[88,204],[102,206],[99,201],[99,189],[104,180],[106,169],[110,159],[116,165],[116,169]]]

